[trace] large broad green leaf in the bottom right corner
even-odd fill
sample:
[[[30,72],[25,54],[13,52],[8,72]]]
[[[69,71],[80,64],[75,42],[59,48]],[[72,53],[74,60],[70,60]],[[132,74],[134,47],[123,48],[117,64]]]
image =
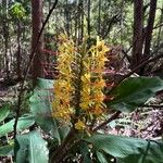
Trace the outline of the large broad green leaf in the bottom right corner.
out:
[[[102,150],[118,163],[163,163],[163,143],[143,139],[97,134],[85,139],[96,151]]]

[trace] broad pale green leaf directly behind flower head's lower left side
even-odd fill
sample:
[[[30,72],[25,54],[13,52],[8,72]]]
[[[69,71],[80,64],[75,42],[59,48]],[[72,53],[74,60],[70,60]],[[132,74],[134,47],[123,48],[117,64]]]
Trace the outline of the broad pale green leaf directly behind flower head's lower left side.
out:
[[[53,83],[54,80],[38,78],[37,87],[29,101],[36,123],[46,133],[57,138],[60,143],[67,135],[70,128],[59,124],[59,122],[52,117],[51,103],[53,100]]]

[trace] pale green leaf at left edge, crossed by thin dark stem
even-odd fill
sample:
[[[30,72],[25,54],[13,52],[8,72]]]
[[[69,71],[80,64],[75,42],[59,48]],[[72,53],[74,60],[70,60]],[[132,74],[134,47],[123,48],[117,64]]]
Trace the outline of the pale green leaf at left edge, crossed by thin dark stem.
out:
[[[13,131],[13,125],[15,120],[11,120],[4,125],[0,126],[0,137]],[[17,122],[17,131],[22,131],[28,127],[30,127],[35,123],[34,116],[28,115],[24,117],[20,117]]]

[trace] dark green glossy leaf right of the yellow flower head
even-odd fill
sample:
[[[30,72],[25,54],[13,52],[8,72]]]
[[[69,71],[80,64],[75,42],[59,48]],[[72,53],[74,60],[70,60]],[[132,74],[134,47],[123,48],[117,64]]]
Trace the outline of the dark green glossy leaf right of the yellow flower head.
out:
[[[122,112],[133,112],[162,89],[163,80],[158,77],[129,77],[111,92],[114,99],[106,105]]]

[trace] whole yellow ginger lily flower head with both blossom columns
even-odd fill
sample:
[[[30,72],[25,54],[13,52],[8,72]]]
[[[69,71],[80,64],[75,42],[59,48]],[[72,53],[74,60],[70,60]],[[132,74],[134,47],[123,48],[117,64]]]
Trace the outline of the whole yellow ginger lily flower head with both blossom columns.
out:
[[[53,117],[77,130],[87,129],[104,114],[104,64],[109,48],[97,38],[78,48],[62,35],[59,46],[59,76],[54,82]]]

